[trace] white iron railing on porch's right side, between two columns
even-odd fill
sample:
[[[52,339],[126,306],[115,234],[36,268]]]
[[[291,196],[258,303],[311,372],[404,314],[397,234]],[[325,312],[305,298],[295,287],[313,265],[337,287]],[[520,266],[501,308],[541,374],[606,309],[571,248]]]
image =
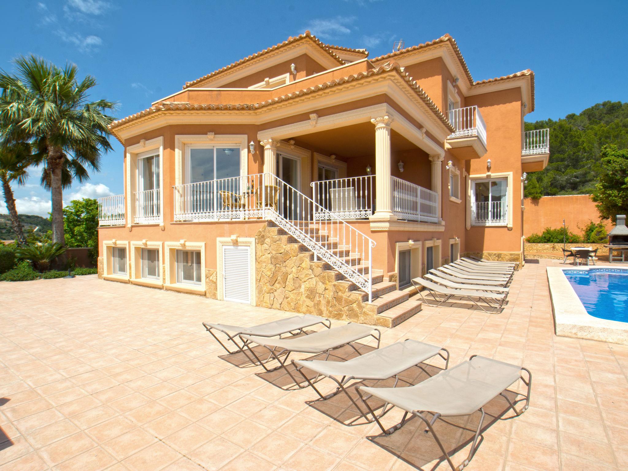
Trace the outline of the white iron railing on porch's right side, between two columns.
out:
[[[438,222],[438,193],[391,176],[393,214],[399,219]]]

